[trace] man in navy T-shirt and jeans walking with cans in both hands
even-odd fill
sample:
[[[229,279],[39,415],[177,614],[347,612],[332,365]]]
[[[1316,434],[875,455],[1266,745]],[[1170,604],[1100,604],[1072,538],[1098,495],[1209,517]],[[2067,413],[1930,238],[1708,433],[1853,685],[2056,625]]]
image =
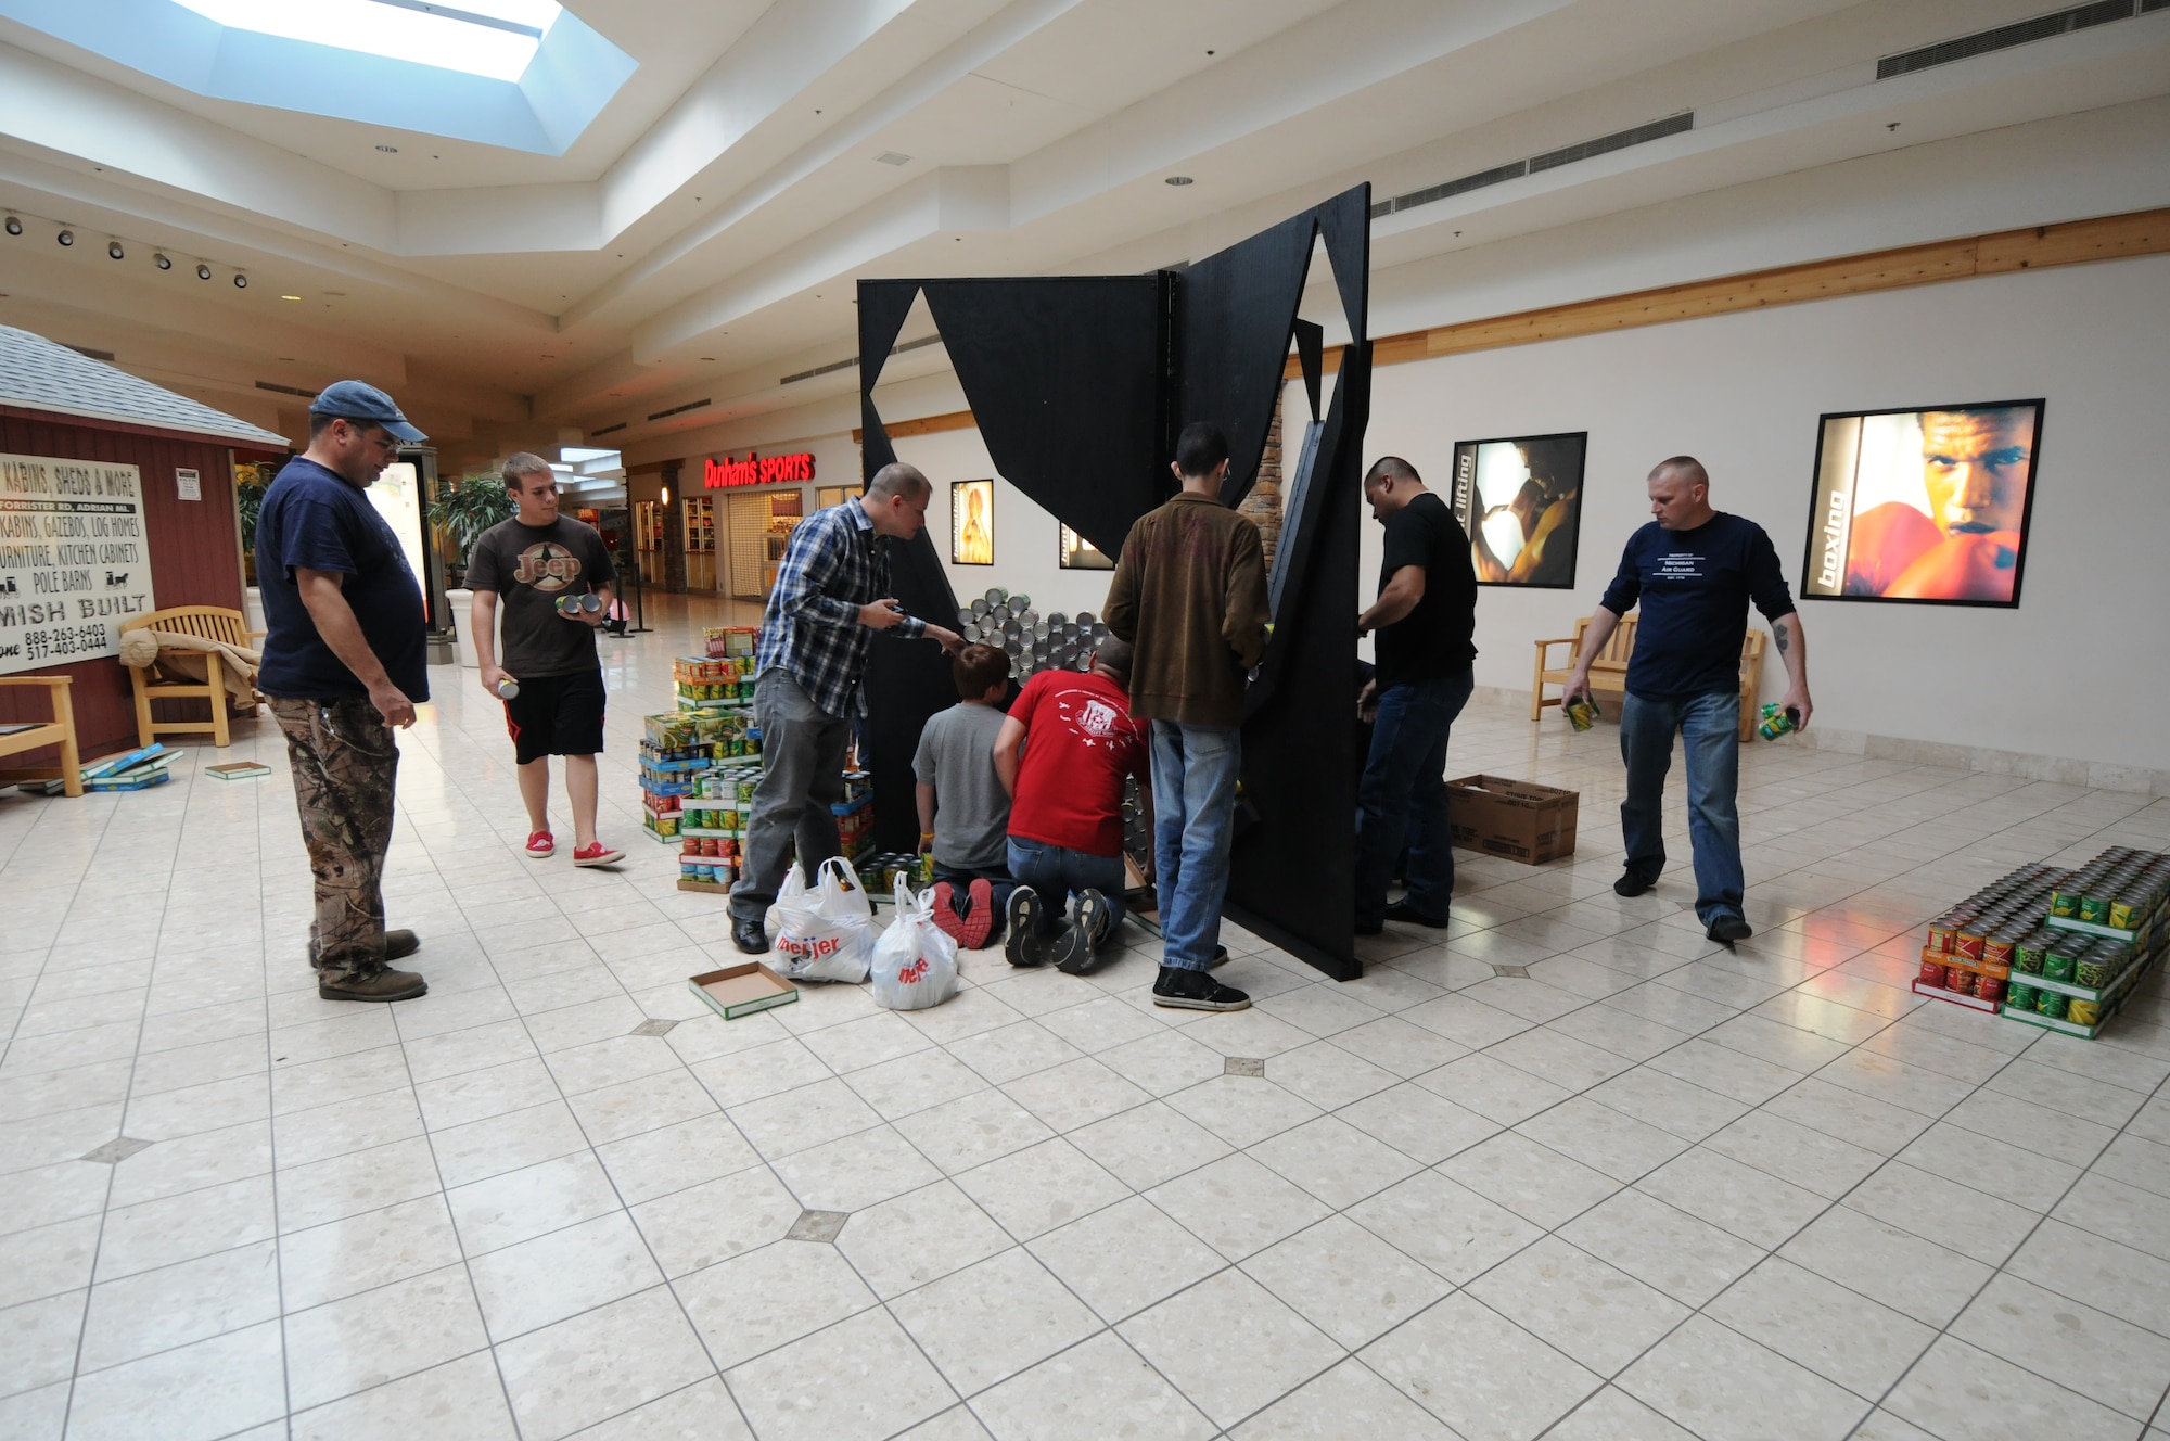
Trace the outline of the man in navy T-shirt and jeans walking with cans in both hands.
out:
[[[1621,703],[1621,760],[1628,799],[1621,831],[1628,868],[1612,890],[1641,896],[1664,870],[1664,773],[1673,734],[1688,753],[1688,840],[1695,849],[1695,916],[1710,940],[1751,935],[1740,914],[1740,640],[1749,601],[1771,621],[1786,660],[1786,710],[1808,725],[1808,642],[1786,590],[1777,551],[1762,525],[1710,508],[1710,475],[1690,456],[1649,473],[1649,525],[1628,538],[1619,575],[1582,636],[1562,701],[1591,692],[1591,660],[1621,616],[1643,605],[1628,694]]]

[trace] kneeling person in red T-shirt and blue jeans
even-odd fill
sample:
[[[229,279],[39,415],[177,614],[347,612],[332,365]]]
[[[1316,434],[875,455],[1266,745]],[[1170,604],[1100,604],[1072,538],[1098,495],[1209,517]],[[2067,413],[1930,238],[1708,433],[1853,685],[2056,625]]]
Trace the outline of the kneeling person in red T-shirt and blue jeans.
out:
[[[1148,779],[1150,738],[1131,718],[1131,642],[1109,636],[1092,671],[1042,671],[994,738],[1009,788],[1011,966],[1083,974],[1122,924],[1122,786]],[[1022,755],[1020,755],[1022,751]],[[1063,927],[1070,896],[1076,924]]]

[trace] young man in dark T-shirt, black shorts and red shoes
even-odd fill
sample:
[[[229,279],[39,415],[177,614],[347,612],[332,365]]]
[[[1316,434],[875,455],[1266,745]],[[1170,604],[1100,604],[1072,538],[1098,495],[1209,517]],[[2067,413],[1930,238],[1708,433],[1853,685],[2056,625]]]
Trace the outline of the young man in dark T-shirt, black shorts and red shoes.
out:
[[[558,514],[558,475],[549,460],[521,451],[506,460],[506,490],[519,514],[482,532],[467,560],[475,592],[475,651],[482,688],[506,703],[506,729],[527,803],[527,855],[558,849],[549,831],[549,757],[564,755],[564,790],[573,801],[573,864],[610,866],[625,851],[595,838],[595,757],[603,749],[603,666],[595,632],[610,614],[618,579],[610,547],[592,525]],[[562,601],[592,595],[571,614]],[[506,664],[497,664],[497,601],[506,605]],[[499,686],[512,681],[519,694]]]

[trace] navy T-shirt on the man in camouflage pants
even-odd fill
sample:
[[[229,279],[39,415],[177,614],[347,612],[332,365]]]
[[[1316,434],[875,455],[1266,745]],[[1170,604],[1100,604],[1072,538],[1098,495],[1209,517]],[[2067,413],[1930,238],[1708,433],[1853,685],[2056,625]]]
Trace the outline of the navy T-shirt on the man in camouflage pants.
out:
[[[280,469],[256,512],[256,584],[271,632],[256,688],[286,699],[369,694],[317,634],[295,566],[345,577],[341,590],[384,675],[410,701],[427,701],[427,621],[399,536],[367,495],[302,456]]]

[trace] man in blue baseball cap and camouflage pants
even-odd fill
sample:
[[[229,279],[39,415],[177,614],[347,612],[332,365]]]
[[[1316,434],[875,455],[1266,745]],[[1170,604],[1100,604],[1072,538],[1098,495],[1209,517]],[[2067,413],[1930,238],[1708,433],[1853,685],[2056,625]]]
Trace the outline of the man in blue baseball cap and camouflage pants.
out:
[[[310,961],[326,1000],[406,1000],[430,990],[386,961],[412,931],[384,929],[399,747],[430,699],[421,586],[399,538],[362,495],[401,443],[425,441],[393,397],[341,380],[308,408],[308,449],[280,469],[256,514],[263,671],[256,688],[286,734],[293,799],[317,879]]]

